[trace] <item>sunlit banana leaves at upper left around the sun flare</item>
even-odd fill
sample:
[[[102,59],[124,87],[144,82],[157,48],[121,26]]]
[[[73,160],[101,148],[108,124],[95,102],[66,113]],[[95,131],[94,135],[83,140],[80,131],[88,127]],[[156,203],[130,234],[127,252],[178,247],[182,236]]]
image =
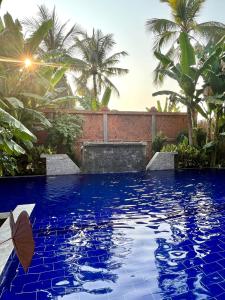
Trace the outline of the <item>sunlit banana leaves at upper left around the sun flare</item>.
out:
[[[41,109],[61,107],[68,103],[74,107],[77,101],[77,97],[73,96],[59,97],[62,88],[58,85],[65,77],[71,62],[49,65],[49,62],[45,63],[43,60],[40,64],[36,64],[34,60],[34,65],[26,68],[21,59],[39,57],[40,44],[52,26],[52,20],[45,20],[28,39],[23,37],[19,21],[14,21],[11,15],[6,14],[2,24],[0,107],[30,129],[49,127],[50,123],[40,111]],[[49,56],[50,54],[46,54],[45,58],[49,59]]]

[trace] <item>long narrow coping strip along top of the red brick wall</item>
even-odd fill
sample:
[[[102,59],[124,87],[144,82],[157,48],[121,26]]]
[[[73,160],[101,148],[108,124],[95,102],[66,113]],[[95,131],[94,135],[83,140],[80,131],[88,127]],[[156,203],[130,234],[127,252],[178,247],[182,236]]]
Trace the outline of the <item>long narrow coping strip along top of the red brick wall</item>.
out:
[[[76,110],[76,109],[52,109],[46,108],[41,110],[43,113],[67,113],[67,114],[80,114],[80,115],[158,115],[158,116],[187,116],[187,113],[183,112],[146,112],[146,111],[88,111],[88,110]]]

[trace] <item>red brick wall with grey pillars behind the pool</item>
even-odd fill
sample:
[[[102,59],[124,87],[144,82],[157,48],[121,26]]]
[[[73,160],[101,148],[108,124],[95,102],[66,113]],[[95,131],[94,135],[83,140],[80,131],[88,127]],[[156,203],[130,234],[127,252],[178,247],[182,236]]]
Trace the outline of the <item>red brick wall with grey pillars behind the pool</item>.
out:
[[[49,118],[54,118],[54,110],[45,110]],[[187,115],[185,113],[155,113],[155,112],[118,112],[102,111],[88,112],[64,109],[63,113],[78,114],[84,120],[83,135],[75,144],[77,159],[81,159],[83,142],[146,142],[148,158],[151,157],[152,136],[163,132],[168,141],[175,141],[179,132],[187,130]],[[155,117],[153,117],[155,116]],[[155,127],[152,122],[155,119]],[[153,132],[154,131],[154,132]],[[46,133],[38,134],[40,142]]]

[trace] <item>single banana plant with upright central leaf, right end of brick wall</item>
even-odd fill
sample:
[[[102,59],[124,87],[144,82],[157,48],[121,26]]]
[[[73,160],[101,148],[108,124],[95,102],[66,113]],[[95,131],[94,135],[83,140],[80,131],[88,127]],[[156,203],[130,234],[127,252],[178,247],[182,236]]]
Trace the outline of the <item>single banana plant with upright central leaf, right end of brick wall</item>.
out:
[[[153,96],[168,95],[172,97],[174,101],[179,101],[187,107],[190,145],[193,144],[193,127],[197,125],[196,113],[200,113],[204,118],[207,117],[205,111],[200,105],[200,95],[202,90],[198,90],[197,85],[199,83],[199,79],[202,77],[211,62],[221,54],[222,50],[219,45],[222,43],[223,40],[218,43],[215,51],[209,55],[204,63],[199,63],[197,61],[194,47],[190,42],[188,34],[185,32],[182,32],[179,37],[180,61],[178,64],[175,65],[168,56],[155,51],[156,58],[163,66],[162,69],[160,69],[160,72],[175,80],[180,86],[182,94],[163,90],[154,93]]]

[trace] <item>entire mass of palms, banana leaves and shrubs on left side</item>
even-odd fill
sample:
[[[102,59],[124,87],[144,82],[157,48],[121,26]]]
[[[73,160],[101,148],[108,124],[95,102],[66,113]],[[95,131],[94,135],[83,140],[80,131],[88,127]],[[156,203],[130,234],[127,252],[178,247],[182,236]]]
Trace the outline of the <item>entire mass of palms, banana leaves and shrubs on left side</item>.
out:
[[[81,134],[82,121],[78,117],[65,115],[52,122],[43,109],[75,108],[78,103],[91,110],[107,107],[111,96],[109,86],[116,89],[108,77],[127,70],[114,66],[125,52],[109,55],[115,44],[112,35],[94,30],[89,37],[76,24],[68,28],[68,22],[60,22],[55,8],[50,11],[44,5],[38,7],[35,17],[22,22],[5,14],[0,19],[0,43],[0,175],[14,175],[24,172],[23,165],[35,169],[40,151],[52,151],[35,144],[36,131],[52,128],[49,138],[54,138],[49,139],[50,145],[56,151],[58,145],[65,151],[68,147],[70,153],[72,142]],[[88,47],[92,43],[90,53],[104,63],[96,66],[97,97],[93,96],[93,87],[88,86],[87,80],[81,80],[89,76],[88,63],[93,67],[97,62],[94,58],[85,61],[81,44]],[[78,49],[80,58],[75,56]],[[68,75],[75,74],[79,77],[77,91],[83,87],[79,95],[74,94],[68,81]],[[101,94],[103,87],[105,92]]]

